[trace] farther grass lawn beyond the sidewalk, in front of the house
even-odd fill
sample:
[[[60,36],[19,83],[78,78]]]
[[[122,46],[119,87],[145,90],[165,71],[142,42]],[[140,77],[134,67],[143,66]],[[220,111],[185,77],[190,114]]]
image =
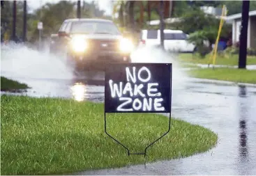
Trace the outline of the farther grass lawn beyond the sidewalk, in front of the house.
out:
[[[211,54],[206,55],[205,58],[199,58],[193,54],[179,54],[179,61],[188,62],[188,63],[202,63],[208,64]],[[216,65],[238,65],[239,55],[230,55],[230,56],[216,56]],[[256,56],[247,56],[247,64],[255,65]]]

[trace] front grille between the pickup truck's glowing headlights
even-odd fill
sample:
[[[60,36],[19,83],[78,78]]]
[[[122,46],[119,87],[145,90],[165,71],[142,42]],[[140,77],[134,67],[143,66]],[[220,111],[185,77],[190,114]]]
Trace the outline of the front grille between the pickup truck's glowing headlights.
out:
[[[116,51],[119,47],[118,40],[90,40],[89,47],[93,51]]]

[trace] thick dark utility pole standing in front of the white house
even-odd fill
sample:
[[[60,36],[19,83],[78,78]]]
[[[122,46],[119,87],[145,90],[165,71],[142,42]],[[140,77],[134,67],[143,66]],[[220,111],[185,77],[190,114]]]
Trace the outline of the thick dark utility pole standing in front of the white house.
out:
[[[243,0],[241,34],[239,41],[239,68],[246,68],[249,8],[250,1]]]

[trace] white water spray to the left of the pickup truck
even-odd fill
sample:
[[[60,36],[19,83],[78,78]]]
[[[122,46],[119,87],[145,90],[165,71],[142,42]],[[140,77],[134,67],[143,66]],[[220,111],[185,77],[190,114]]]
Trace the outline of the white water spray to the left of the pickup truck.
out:
[[[64,56],[10,43],[1,45],[1,74],[6,77],[72,79],[73,68],[66,64]]]

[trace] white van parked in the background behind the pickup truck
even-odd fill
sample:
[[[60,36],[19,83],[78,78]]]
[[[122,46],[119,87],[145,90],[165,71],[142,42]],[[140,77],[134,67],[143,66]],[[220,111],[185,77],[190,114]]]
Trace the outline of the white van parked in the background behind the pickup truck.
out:
[[[186,39],[188,34],[180,30],[164,30],[164,47],[165,50],[178,52],[193,52],[195,45]],[[158,47],[160,46],[160,30],[142,30],[140,47]]]

